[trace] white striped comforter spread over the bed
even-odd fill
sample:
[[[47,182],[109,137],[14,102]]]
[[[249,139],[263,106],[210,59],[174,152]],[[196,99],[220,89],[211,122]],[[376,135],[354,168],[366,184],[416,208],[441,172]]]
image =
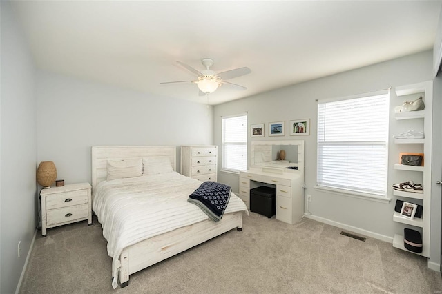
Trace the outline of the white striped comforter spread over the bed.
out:
[[[97,185],[93,210],[113,257],[113,287],[117,287],[118,259],[122,250],[144,239],[209,219],[198,206],[187,202],[202,182],[179,173],[113,179]],[[247,207],[231,193],[225,213]]]

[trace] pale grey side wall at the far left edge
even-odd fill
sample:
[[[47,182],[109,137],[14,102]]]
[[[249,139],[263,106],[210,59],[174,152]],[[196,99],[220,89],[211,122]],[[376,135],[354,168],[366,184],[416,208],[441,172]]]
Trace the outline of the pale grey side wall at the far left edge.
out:
[[[14,293],[37,226],[35,70],[10,3],[0,5],[0,293]]]

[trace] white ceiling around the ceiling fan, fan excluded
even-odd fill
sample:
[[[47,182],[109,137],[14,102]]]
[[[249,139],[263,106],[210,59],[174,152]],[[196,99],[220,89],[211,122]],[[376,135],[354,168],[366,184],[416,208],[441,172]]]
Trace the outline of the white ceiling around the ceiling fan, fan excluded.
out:
[[[432,48],[441,1],[14,1],[37,68],[207,103],[176,61],[223,72],[220,104]]]

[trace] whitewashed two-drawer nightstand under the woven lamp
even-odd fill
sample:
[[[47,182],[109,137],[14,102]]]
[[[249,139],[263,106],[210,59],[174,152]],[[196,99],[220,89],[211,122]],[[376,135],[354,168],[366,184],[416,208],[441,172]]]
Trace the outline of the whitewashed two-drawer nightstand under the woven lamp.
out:
[[[62,187],[42,189],[41,235],[46,229],[88,219],[92,224],[92,207],[89,183],[67,184]]]

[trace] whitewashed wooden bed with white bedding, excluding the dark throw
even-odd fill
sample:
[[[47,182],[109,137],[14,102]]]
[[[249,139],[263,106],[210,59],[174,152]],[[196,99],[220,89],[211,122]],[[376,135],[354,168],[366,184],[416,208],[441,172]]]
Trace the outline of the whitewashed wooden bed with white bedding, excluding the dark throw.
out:
[[[242,230],[248,212],[233,193],[219,222],[186,202],[200,184],[176,172],[175,146],[92,148],[93,210],[113,257],[113,288],[118,278],[128,286],[137,271],[233,228]]]

